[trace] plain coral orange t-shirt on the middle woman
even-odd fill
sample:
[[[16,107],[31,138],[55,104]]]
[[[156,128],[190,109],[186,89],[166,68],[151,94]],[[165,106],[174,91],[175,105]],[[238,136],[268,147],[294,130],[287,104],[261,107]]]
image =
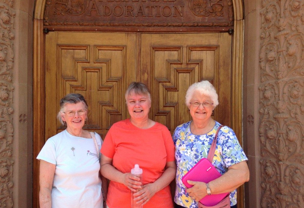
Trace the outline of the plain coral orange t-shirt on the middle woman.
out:
[[[113,124],[105,136],[101,153],[112,158],[112,165],[122,173],[130,173],[135,164],[143,169],[143,185],[153,183],[164,172],[166,162],[174,161],[174,143],[168,128],[158,122],[149,129],[134,126],[130,119]],[[131,190],[110,181],[107,205],[130,208]],[[155,193],[144,208],[172,208],[170,187]]]

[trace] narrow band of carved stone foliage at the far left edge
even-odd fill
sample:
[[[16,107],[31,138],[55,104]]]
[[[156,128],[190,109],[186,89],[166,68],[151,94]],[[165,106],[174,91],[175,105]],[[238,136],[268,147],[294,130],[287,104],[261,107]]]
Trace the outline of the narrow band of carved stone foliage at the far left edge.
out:
[[[14,1],[0,2],[0,207],[13,207]]]

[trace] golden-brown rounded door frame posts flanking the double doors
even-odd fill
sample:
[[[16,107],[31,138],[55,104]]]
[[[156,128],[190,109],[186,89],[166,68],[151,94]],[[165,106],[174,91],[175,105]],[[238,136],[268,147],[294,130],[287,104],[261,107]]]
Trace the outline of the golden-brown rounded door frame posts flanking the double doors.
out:
[[[243,145],[242,94],[243,94],[243,53],[244,53],[244,5],[242,0],[233,3],[233,37],[232,37],[232,121],[231,128]],[[44,74],[44,32],[43,16],[46,0],[36,0],[33,20],[33,207],[39,207],[39,161],[36,156],[44,145],[45,137],[45,74]],[[183,31],[187,32],[187,31]],[[193,32],[193,31],[192,31]],[[38,125],[39,124],[39,125]],[[41,139],[43,138],[43,139]],[[238,207],[244,207],[244,185],[238,190]]]

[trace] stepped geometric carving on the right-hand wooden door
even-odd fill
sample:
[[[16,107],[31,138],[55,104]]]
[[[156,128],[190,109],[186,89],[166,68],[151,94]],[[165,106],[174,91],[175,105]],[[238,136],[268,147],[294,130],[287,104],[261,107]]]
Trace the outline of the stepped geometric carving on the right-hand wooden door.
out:
[[[173,133],[176,126],[191,120],[185,92],[194,82],[214,82],[218,70],[218,46],[152,46],[151,115]]]

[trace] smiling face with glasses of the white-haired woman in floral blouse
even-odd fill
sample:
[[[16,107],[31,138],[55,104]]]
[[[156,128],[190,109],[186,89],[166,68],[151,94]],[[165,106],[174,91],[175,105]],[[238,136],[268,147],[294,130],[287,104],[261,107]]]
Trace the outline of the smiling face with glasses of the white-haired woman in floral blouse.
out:
[[[194,121],[206,121],[208,120],[214,109],[212,103],[213,101],[209,96],[202,95],[200,92],[194,92],[192,99],[190,99],[191,104],[189,104],[190,114]],[[203,104],[204,103],[204,104]],[[195,106],[198,105],[199,106]],[[209,105],[208,105],[209,104]],[[204,106],[205,105],[205,106]]]

